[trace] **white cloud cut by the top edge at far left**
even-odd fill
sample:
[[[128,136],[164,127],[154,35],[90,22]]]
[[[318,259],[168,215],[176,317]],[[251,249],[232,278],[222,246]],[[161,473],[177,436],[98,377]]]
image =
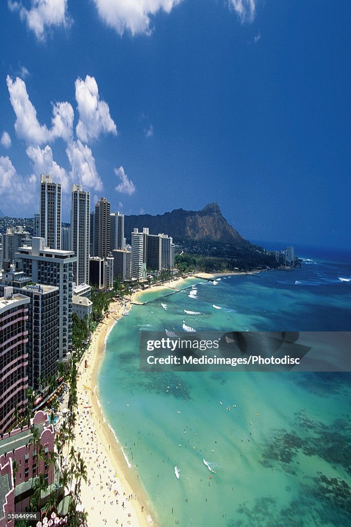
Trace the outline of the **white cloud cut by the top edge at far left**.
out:
[[[32,0],[30,9],[22,2],[8,0],[11,11],[18,11],[29,30],[38,40],[45,40],[45,31],[52,26],[69,26],[71,20],[67,13],[67,0]]]

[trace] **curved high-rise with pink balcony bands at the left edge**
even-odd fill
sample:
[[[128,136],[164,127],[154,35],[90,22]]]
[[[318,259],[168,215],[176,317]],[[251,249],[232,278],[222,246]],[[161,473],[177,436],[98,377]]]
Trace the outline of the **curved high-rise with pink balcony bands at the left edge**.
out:
[[[0,434],[15,422],[14,411],[24,413],[28,377],[26,343],[29,298],[4,288],[0,298]]]

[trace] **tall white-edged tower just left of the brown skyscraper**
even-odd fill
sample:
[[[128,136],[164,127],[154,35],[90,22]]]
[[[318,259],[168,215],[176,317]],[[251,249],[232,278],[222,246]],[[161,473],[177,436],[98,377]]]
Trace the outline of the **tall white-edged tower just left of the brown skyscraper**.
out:
[[[73,185],[71,208],[71,248],[77,257],[73,269],[76,285],[89,283],[90,193],[82,185]]]

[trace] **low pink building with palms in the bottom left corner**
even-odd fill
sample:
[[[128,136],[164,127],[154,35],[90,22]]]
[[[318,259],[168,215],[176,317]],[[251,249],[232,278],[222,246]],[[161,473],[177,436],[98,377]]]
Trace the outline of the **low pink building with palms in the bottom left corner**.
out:
[[[39,473],[45,475],[48,485],[54,482],[54,467],[49,465],[49,452],[54,450],[54,427],[49,424],[47,414],[36,412],[31,427],[38,430],[39,442],[45,452],[45,461],[37,460],[38,446],[31,443],[31,428],[24,426],[4,434],[0,441],[0,527],[14,527],[7,514],[25,512],[33,494],[33,479]],[[17,472],[14,474],[13,462]]]

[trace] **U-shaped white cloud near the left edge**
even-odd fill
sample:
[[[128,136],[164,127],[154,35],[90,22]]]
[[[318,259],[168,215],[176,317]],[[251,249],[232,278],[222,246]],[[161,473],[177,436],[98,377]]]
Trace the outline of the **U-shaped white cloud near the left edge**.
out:
[[[68,102],[57,102],[53,104],[52,128],[49,130],[44,124],[40,124],[36,109],[29,100],[26,84],[22,79],[16,77],[13,81],[9,75],[6,77],[8,92],[12,108],[16,114],[15,130],[19,138],[28,143],[43,144],[56,138],[67,141],[73,135],[74,112]]]

